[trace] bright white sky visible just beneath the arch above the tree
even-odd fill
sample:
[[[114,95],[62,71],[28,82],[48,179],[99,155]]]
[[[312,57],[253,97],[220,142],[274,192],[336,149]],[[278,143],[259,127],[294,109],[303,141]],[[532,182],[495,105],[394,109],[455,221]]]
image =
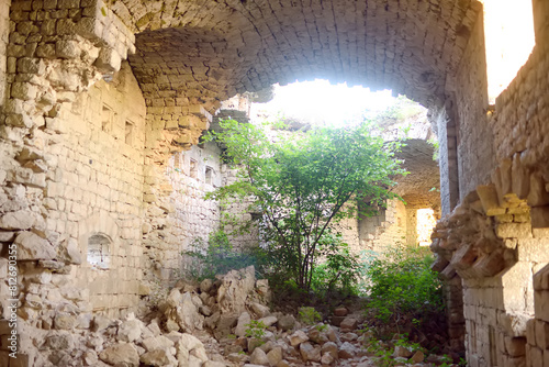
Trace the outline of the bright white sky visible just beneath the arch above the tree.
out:
[[[365,111],[381,112],[394,103],[390,90],[371,92],[359,86],[330,85],[327,80],[294,82],[274,86],[274,98],[267,103],[254,103],[253,114],[267,112],[277,115],[306,119],[314,123],[344,124],[360,121]]]

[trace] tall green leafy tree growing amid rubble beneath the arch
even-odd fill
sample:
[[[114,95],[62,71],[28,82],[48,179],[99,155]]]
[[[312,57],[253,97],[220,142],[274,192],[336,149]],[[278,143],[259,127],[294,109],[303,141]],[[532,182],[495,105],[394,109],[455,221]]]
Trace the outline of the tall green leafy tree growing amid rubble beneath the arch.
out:
[[[206,140],[225,147],[238,180],[208,198],[250,201],[273,268],[302,289],[311,287],[329,225],[394,198],[392,178],[404,174],[394,158],[399,143],[371,136],[368,123],[273,138],[265,125],[226,120],[221,127]]]

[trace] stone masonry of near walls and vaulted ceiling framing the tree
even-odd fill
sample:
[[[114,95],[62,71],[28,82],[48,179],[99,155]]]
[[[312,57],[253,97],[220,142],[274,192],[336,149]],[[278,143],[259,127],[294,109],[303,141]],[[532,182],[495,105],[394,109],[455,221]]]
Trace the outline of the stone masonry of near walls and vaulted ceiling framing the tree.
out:
[[[221,102],[326,78],[430,109],[455,348],[472,367],[549,366],[549,3],[531,3],[536,45],[489,105],[477,0],[0,0],[0,365],[60,349],[93,365],[74,335],[138,312],[143,280],[215,227],[194,221],[217,209],[178,190],[219,179],[215,158],[198,164],[215,148],[191,146]]]

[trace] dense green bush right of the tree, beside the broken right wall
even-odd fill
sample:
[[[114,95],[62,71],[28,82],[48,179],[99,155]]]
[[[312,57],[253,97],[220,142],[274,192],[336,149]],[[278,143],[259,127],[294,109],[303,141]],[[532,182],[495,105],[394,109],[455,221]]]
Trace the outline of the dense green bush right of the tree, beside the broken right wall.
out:
[[[433,258],[421,251],[392,249],[368,268],[368,307],[378,324],[399,331],[422,323],[444,308],[441,281],[430,269]]]

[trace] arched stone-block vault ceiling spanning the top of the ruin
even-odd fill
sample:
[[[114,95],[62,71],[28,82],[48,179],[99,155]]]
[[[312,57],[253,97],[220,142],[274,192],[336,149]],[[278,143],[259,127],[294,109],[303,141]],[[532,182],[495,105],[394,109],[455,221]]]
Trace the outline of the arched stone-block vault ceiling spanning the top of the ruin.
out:
[[[440,104],[475,0],[114,0],[136,32],[132,68],[150,107],[325,78]]]

